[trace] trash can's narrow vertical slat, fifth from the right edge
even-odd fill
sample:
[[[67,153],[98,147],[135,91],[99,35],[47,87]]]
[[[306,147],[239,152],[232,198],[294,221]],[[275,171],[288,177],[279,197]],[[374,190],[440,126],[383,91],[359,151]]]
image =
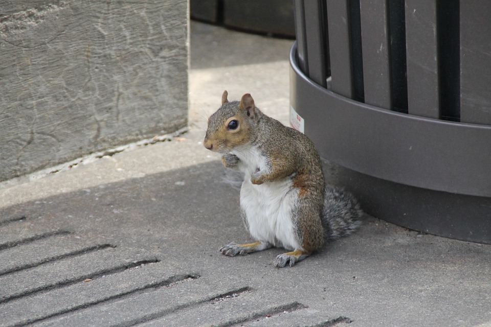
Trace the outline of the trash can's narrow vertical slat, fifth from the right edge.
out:
[[[308,77],[326,87],[326,35],[323,5],[320,0],[304,2],[305,32],[307,41]]]

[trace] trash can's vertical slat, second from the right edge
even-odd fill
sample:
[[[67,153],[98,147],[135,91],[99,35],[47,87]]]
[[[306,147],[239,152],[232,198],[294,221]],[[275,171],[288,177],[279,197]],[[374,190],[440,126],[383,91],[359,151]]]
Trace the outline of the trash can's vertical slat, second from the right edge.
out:
[[[436,0],[406,0],[408,113],[438,119]]]

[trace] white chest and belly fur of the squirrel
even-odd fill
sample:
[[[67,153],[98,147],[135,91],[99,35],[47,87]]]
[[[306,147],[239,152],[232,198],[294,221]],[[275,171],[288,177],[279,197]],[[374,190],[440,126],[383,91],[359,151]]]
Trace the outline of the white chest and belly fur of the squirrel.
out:
[[[244,154],[248,154],[244,156]],[[298,189],[292,178],[254,185],[251,174],[265,168],[265,161],[255,149],[235,152],[245,173],[240,189],[240,207],[247,217],[249,232],[259,240],[284,247],[301,249],[293,226],[292,213],[298,205]]]

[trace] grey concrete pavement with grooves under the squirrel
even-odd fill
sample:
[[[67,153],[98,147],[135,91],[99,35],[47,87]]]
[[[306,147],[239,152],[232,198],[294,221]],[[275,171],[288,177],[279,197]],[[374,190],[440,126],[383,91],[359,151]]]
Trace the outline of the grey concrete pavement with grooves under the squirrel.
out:
[[[250,238],[206,118],[227,89],[287,123],[292,41],[191,27],[188,132],[0,184],[0,326],[491,326],[489,245],[366,217],[292,268],[219,254]]]

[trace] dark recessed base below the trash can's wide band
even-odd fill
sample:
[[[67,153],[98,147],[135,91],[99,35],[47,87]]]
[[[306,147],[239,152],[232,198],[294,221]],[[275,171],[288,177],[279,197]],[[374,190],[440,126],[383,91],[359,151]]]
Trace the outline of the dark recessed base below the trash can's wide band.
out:
[[[409,229],[491,244],[491,198],[421,189],[324,165],[326,182],[360,200],[369,215]]]

